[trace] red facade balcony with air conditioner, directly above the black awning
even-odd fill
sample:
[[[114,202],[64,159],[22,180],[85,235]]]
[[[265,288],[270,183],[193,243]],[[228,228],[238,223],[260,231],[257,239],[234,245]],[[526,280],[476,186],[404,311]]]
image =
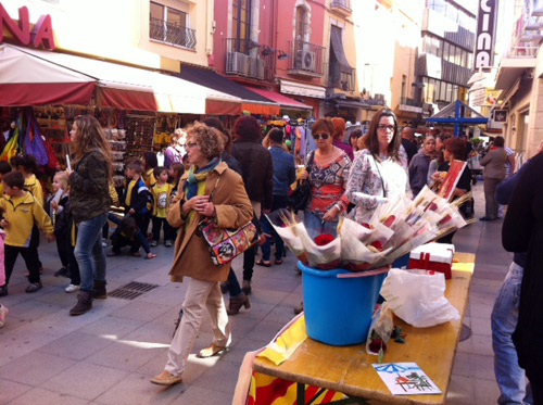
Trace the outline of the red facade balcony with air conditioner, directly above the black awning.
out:
[[[227,75],[256,80],[274,79],[275,52],[269,47],[239,38],[227,38],[225,45]]]

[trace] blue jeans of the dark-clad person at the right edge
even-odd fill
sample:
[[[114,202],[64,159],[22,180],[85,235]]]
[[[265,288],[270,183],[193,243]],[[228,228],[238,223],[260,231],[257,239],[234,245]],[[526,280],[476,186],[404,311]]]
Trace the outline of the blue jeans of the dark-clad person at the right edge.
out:
[[[517,327],[520,301],[520,284],[523,269],[515,262],[500,289],[492,309],[492,349],[494,350],[494,374],[502,392],[498,404],[532,404],[529,387],[526,387],[525,370],[518,365],[513,332]]]

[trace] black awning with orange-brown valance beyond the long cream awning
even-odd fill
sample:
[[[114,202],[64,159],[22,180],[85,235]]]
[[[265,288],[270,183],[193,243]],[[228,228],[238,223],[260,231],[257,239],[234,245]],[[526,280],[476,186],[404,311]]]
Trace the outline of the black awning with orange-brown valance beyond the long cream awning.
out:
[[[177,74],[178,77],[189,80],[191,83],[209,87],[211,89],[225,92],[241,99],[239,111],[232,112],[231,115],[241,114],[242,111],[249,111],[251,114],[268,114],[278,115],[279,104],[266,97],[263,97],[254,91],[249,90],[244,86],[229,80],[220,76],[215,71],[207,68],[200,68],[195,66],[181,65],[181,72]],[[222,114],[218,103],[212,104],[207,102],[207,114]],[[226,115],[226,114],[225,114]]]

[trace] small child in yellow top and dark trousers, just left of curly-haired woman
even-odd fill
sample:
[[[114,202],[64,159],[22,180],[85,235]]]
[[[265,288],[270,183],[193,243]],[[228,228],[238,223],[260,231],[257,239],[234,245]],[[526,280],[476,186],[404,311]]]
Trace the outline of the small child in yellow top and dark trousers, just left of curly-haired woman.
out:
[[[164,166],[159,166],[154,168],[154,177],[156,178],[156,183],[151,188],[151,194],[153,195],[153,241],[151,246],[156,246],[161,238],[161,228],[164,229],[164,245],[166,248],[172,248],[174,240],[175,230],[169,226],[166,220],[166,213],[169,208],[169,201],[172,195],[173,185],[167,182],[168,180],[168,169]]]

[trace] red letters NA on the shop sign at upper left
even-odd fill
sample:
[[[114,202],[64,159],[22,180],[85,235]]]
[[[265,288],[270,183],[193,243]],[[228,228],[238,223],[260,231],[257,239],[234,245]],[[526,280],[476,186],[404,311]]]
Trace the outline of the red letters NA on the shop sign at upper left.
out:
[[[18,9],[18,21],[16,21],[0,3],[0,42],[3,41],[4,29],[9,30],[22,45],[31,45],[35,48],[42,45],[46,49],[54,49],[53,26],[49,14],[40,16],[30,30],[30,16],[26,7]]]

